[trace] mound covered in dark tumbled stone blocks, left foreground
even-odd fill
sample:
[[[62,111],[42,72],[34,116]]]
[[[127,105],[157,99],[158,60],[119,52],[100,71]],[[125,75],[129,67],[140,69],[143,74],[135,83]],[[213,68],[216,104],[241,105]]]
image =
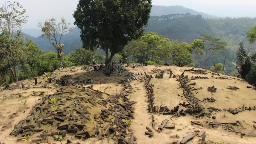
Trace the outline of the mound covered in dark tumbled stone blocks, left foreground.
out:
[[[70,86],[64,92],[42,98],[29,116],[14,126],[11,135],[37,137],[32,138],[34,142],[55,135],[74,135],[79,139],[113,136],[119,142],[127,142],[125,120],[133,118],[132,105],[136,103],[127,99],[132,93],[131,85],[124,85],[115,96],[79,87]],[[57,99],[57,103],[51,104],[51,99]]]

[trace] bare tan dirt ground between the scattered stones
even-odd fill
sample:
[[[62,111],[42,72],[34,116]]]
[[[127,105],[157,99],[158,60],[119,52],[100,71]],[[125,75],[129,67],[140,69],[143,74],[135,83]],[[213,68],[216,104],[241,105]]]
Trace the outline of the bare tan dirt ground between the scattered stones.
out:
[[[133,73],[143,73],[143,75],[136,75],[137,80],[130,82],[133,87],[133,93],[131,94],[130,100],[137,101],[136,104],[133,106],[135,107],[134,110],[134,117],[133,123],[131,125],[131,133],[135,135],[137,140],[137,144],[153,144],[153,143],[162,143],[162,144],[170,144],[172,142],[176,142],[176,134],[179,135],[178,141],[181,141],[183,137],[189,134],[195,134],[195,130],[204,130],[206,131],[206,139],[207,143],[214,143],[218,141],[222,144],[255,144],[256,138],[255,136],[247,136],[247,134],[256,133],[255,125],[256,121],[256,111],[254,110],[246,110],[240,112],[236,115],[233,115],[229,112],[225,113],[224,111],[221,112],[213,112],[212,116],[216,116],[216,120],[221,123],[229,123],[229,122],[236,122],[237,120],[242,122],[243,128],[236,129],[236,132],[228,132],[224,130],[221,126],[218,128],[212,128],[208,126],[198,126],[192,125],[191,121],[200,121],[200,122],[212,122],[214,121],[211,117],[198,117],[196,118],[193,115],[186,115],[181,117],[176,117],[173,115],[162,115],[162,114],[151,114],[148,112],[148,98],[146,97],[146,89],[144,87],[144,81],[141,81],[142,77],[144,77],[144,71],[150,75],[152,74],[153,78],[151,79],[150,83],[154,84],[154,94],[155,94],[155,104],[159,106],[168,106],[168,108],[173,108],[179,105],[180,101],[185,100],[182,95],[182,89],[179,89],[179,82],[176,81],[176,78],[170,78],[167,73],[164,73],[163,79],[155,79],[155,75],[157,73],[153,72],[152,70],[156,69],[171,69],[173,74],[181,75],[185,69],[190,69],[191,67],[178,67],[178,66],[138,66],[136,68],[132,67],[131,64],[127,67],[128,72]],[[195,68],[197,69],[197,68]],[[117,74],[112,75],[110,77],[105,77],[104,74],[100,72],[88,72],[84,70],[83,67],[69,67],[64,68],[61,70],[56,70],[52,73],[52,78],[55,80],[66,78],[68,81],[74,80],[75,84],[80,84],[80,81],[83,79],[94,79],[94,89],[105,91],[109,94],[116,94],[119,93],[122,89],[122,84],[119,84],[119,81],[126,77],[126,75],[118,76]],[[184,75],[188,75],[190,78],[191,76],[201,76],[201,77],[208,77],[209,79],[196,79],[191,80],[191,82],[196,82],[196,85],[193,85],[195,88],[202,87],[202,89],[197,90],[199,93],[196,95],[198,99],[200,99],[205,108],[211,106],[223,109],[228,108],[239,108],[242,107],[243,104],[245,106],[253,107],[256,105],[256,91],[253,89],[246,88],[246,85],[249,85],[245,81],[227,76],[228,79],[216,79],[217,75],[211,78],[211,72],[208,71],[208,74],[192,74],[190,72],[184,72]],[[221,75],[224,77],[224,75]],[[232,79],[234,78],[234,79]],[[40,99],[44,97],[48,91],[48,88],[42,88],[41,86],[47,83],[45,77],[37,77],[37,81],[40,84],[34,85],[33,79],[28,79],[22,81],[25,86],[30,83],[31,88],[24,90],[21,86],[14,90],[3,90],[0,92],[0,142],[5,142],[6,144],[15,144],[15,143],[26,143],[25,141],[17,141],[17,137],[13,135],[9,135],[11,133],[11,129],[13,126],[18,123],[20,120],[23,120],[26,117],[30,110],[32,109],[33,105],[36,102],[40,102]],[[97,84],[98,81],[101,81],[102,84]],[[11,85],[15,85],[11,84]],[[217,88],[216,93],[211,94],[207,91],[208,86],[214,85]],[[236,91],[227,89],[228,86],[236,86],[239,89]],[[56,87],[54,87],[54,82],[49,85],[48,94],[53,94],[56,92]],[[61,86],[59,86],[61,87]],[[45,93],[40,96],[35,96],[35,92],[44,91]],[[207,102],[203,101],[204,98],[213,97],[216,99],[215,102]],[[21,100],[28,100],[27,104],[25,105],[25,113],[24,107],[21,103]],[[145,135],[146,126],[152,129],[152,115],[155,117],[156,122],[156,129],[153,130],[154,136],[148,137]],[[175,125],[175,129],[163,129],[163,131],[158,131],[157,128],[161,125],[161,122],[165,119],[168,119],[168,124]],[[241,136],[240,133],[245,133],[245,136]],[[32,137],[33,138],[33,137]],[[191,141],[187,142],[188,144],[198,143],[198,140],[201,137],[195,136]],[[66,142],[67,139],[72,140],[73,142],[80,142],[85,144],[100,144],[100,143],[117,143],[111,139],[103,139],[98,140],[97,138],[90,138],[87,140],[78,140],[72,136],[66,136],[63,139],[63,143]],[[59,144],[60,142],[54,141],[54,139],[50,139],[49,142],[54,142]]]

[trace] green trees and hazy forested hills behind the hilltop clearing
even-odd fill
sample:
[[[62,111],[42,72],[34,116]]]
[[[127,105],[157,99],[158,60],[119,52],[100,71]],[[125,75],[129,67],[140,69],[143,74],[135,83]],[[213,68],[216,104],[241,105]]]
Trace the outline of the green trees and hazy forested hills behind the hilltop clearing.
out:
[[[256,18],[217,18],[207,14],[202,16],[200,15],[202,13],[196,13],[191,9],[189,12],[193,14],[185,13],[183,7],[166,8],[181,8],[182,10],[177,12],[182,12],[151,16],[148,25],[144,27],[145,33],[137,40],[129,42],[122,51],[116,52],[114,60],[122,58],[124,61],[148,64],[181,62],[227,75],[237,75],[245,62],[250,61],[248,73],[244,74],[243,78],[249,78],[247,75],[253,73],[249,71],[254,67],[255,59],[252,55],[255,44],[253,40],[247,41],[247,39],[253,37],[253,35],[248,36],[248,30],[256,25]],[[164,13],[163,10],[157,12],[158,9],[160,7],[153,7],[151,15]],[[18,14],[22,16],[24,13],[23,11]],[[16,23],[18,25],[25,23],[26,20],[23,18],[17,19]],[[68,31],[63,35],[58,31],[55,32],[55,36],[61,36],[59,43],[48,41],[47,38],[51,40],[53,35],[46,31],[49,30],[46,26],[55,24],[55,21],[54,23],[49,21],[41,27],[44,37],[22,34],[19,29],[11,32],[1,31],[1,85],[43,75],[44,72],[54,71],[62,65],[68,67],[89,64],[92,59],[96,59],[98,63],[104,62],[105,52],[102,49],[81,48],[83,44],[78,27],[72,29],[67,27]],[[65,19],[62,22],[65,22]],[[50,37],[45,37],[46,35]],[[17,49],[13,51],[11,47]],[[243,57],[247,59],[236,64],[237,49],[241,47],[244,47],[241,51]],[[10,52],[6,53],[6,51]]]

